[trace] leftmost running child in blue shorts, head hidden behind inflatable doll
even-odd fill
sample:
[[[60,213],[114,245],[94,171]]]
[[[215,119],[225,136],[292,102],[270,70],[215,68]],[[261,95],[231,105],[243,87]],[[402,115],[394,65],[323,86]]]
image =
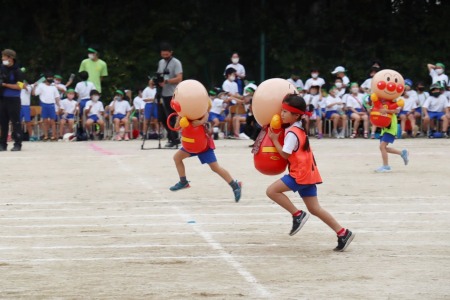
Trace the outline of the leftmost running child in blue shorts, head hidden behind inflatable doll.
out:
[[[205,123],[208,121],[208,112],[206,112],[203,117],[199,120],[191,121],[192,126],[205,126]],[[179,126],[179,120],[180,118],[177,118],[177,122],[175,124],[175,127]],[[207,132],[207,129],[205,128],[205,132]],[[198,156],[198,159],[202,164],[208,164],[211,170],[213,170],[215,173],[219,174],[220,177],[222,177],[232,188],[234,193],[234,200],[236,202],[239,202],[241,199],[241,182],[238,182],[237,180],[234,180],[230,173],[222,168],[219,163],[217,162],[216,155],[214,153],[214,143],[211,140],[210,135],[207,135],[208,138],[208,149],[201,153],[189,153],[187,152],[183,147],[181,147],[173,156],[173,160],[175,161],[175,167],[177,168],[178,175],[180,176],[180,181],[177,182],[174,186],[170,187],[171,191],[178,191],[181,189],[189,188],[189,181],[186,179],[186,169],[184,167],[183,160],[186,158],[189,158],[191,156]]]

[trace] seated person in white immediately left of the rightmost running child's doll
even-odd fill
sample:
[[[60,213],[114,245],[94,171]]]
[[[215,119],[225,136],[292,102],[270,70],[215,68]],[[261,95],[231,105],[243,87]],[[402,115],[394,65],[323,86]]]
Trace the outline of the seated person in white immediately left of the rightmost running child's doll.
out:
[[[350,93],[346,97],[347,115],[353,120],[353,132],[350,138],[356,138],[358,128],[363,121],[364,138],[369,137],[369,115],[363,106],[364,95],[359,92],[359,85],[356,82],[350,84]]]

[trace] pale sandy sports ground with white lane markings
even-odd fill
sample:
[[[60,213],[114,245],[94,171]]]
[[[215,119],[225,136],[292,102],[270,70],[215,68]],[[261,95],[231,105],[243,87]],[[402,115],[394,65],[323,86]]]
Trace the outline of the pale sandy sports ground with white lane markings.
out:
[[[131,142],[35,142],[0,153],[1,299],[450,299],[450,140],[398,140],[376,174],[378,142],[311,140],[319,199],[356,233],[346,252],[311,217],[265,195],[280,176],[253,167],[248,141],[218,141],[230,187],[174,150]],[[147,142],[157,147],[156,141]],[[11,146],[10,146],[11,147]],[[292,193],[300,208],[301,199]]]

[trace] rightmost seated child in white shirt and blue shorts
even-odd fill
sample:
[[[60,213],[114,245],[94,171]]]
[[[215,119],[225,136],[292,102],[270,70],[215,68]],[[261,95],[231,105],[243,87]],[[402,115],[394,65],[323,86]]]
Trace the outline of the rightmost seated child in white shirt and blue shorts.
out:
[[[442,136],[447,136],[448,118],[446,112],[449,110],[447,98],[443,95],[444,89],[439,83],[432,84],[430,87],[430,97],[425,100],[422,106],[423,126],[428,131],[428,137],[434,138],[434,131],[439,130],[439,121],[442,121]],[[437,124],[432,124],[436,120]],[[432,127],[435,129],[433,130]]]

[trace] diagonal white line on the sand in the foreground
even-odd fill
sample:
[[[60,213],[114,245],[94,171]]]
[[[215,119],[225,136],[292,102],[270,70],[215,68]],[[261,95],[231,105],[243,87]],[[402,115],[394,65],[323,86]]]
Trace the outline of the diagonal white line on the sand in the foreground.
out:
[[[180,218],[183,218],[186,221],[192,220],[192,218],[190,218],[188,215],[182,213],[178,207],[172,206],[172,209],[178,212]],[[211,236],[210,233],[202,230],[200,225],[198,225],[197,223],[192,224],[191,228],[198,235],[200,235],[212,249],[216,250],[219,253],[221,259],[223,259],[229,265],[231,265],[248,283],[250,283],[253,286],[253,288],[256,291],[258,291],[261,297],[264,298],[270,297],[269,291],[262,284],[260,284],[258,280],[249,271],[247,271],[247,269],[241,263],[239,263],[235,259],[233,255],[226,252],[223,246],[219,242],[214,240],[214,238]]]

